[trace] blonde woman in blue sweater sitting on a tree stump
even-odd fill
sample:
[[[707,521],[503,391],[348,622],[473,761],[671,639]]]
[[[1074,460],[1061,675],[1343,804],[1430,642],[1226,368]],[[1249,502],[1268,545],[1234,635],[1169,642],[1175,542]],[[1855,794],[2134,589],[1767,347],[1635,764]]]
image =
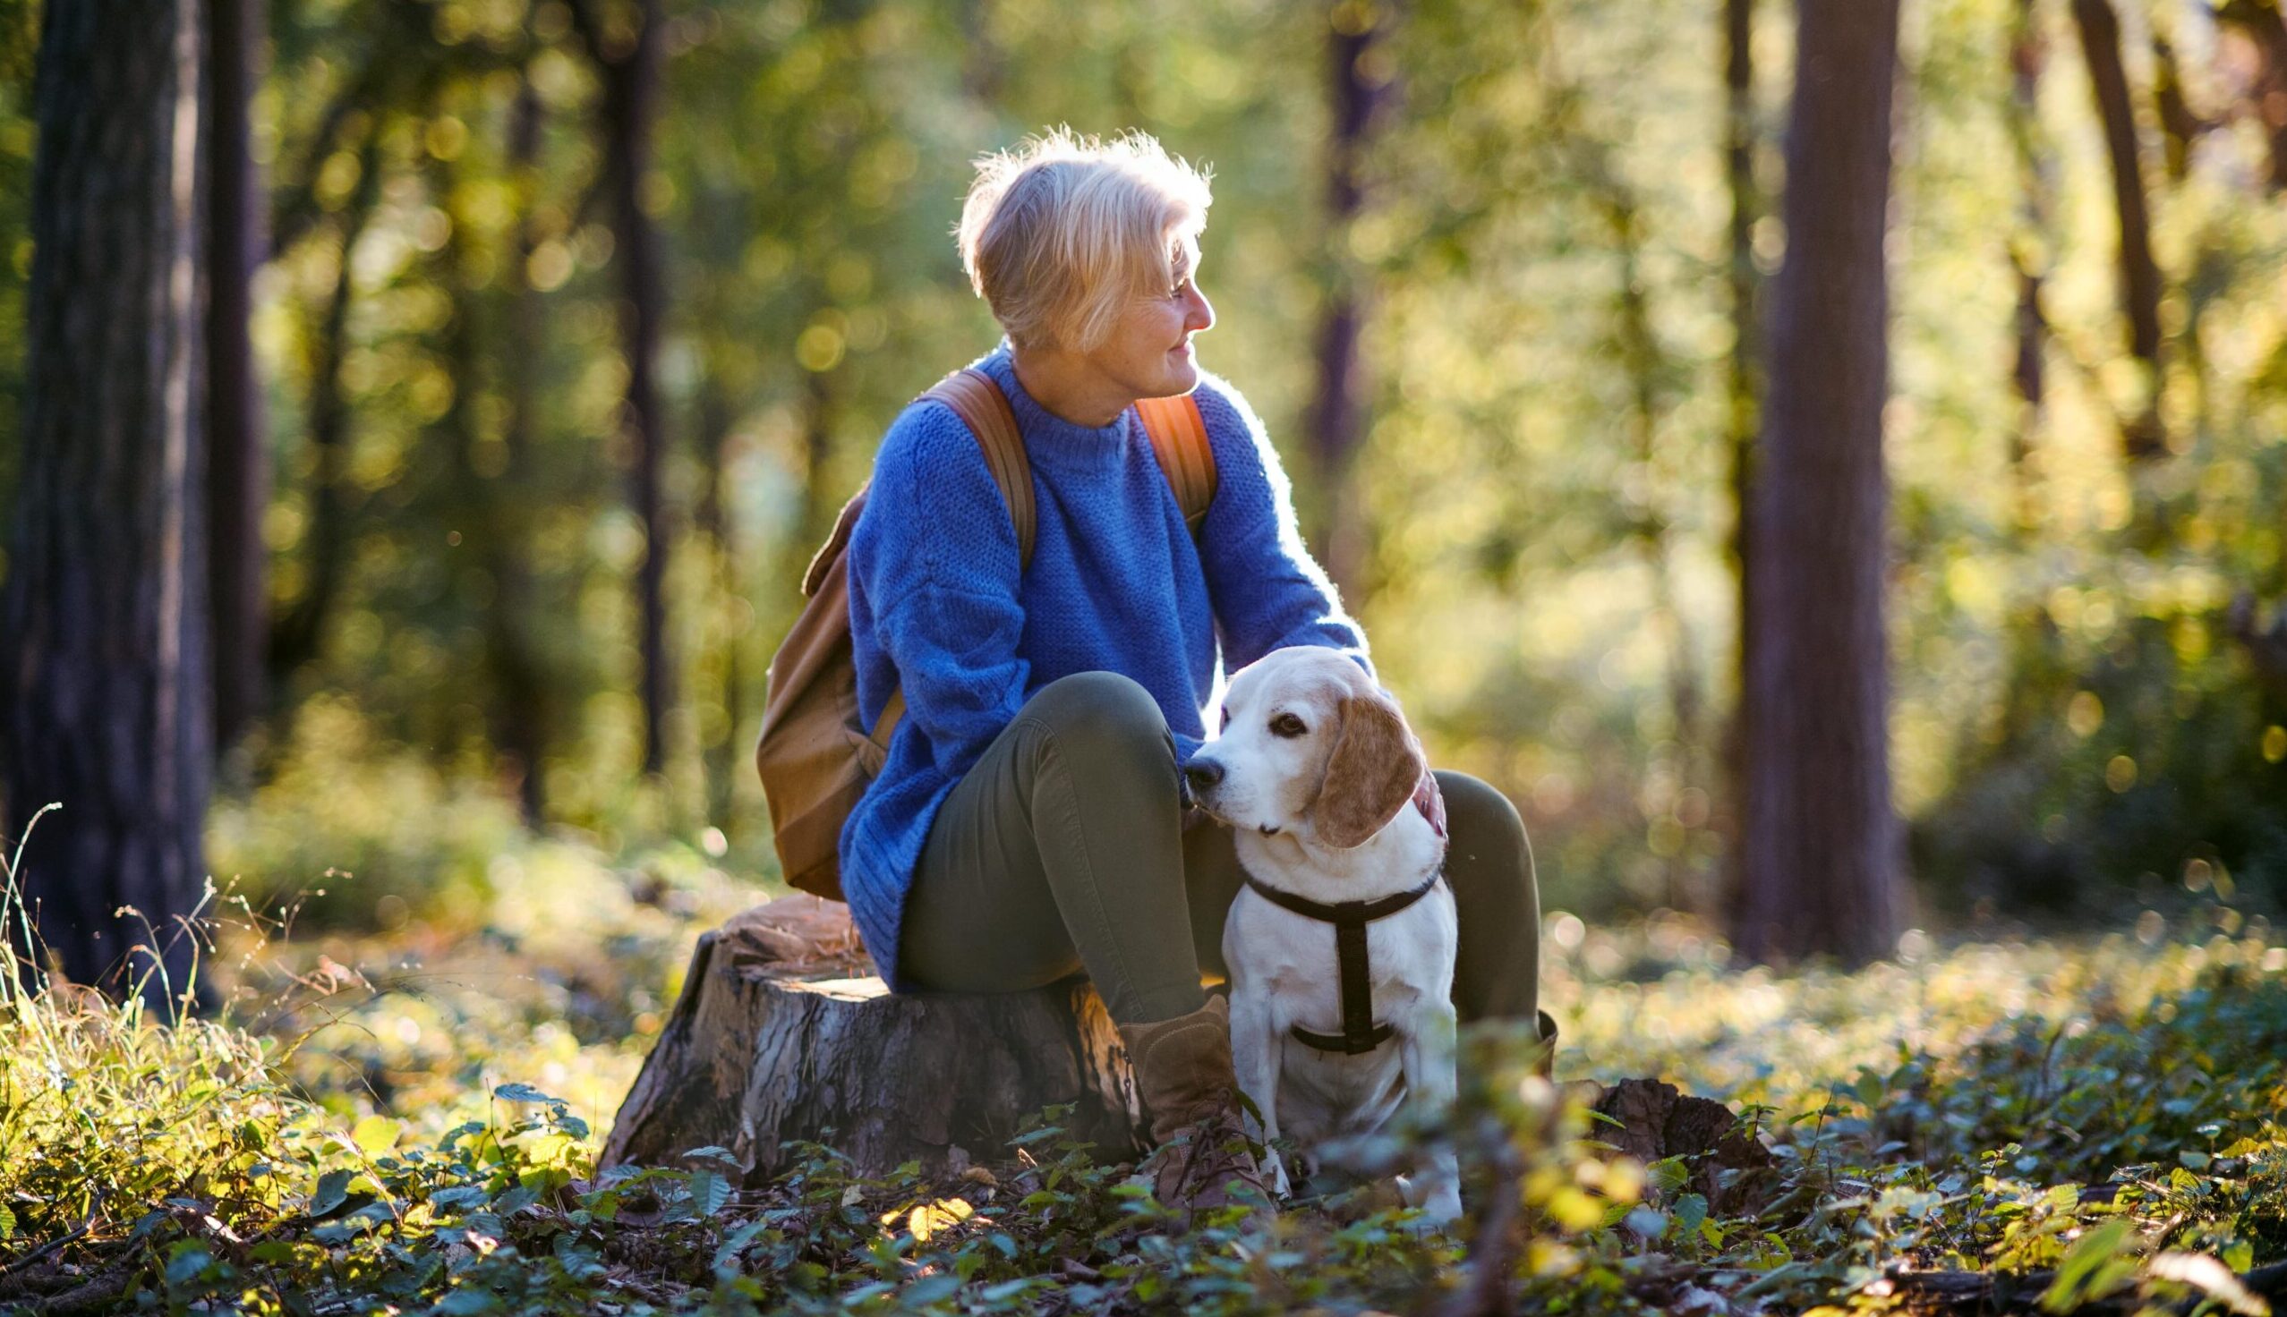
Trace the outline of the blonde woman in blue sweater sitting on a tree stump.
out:
[[[1137,1068],[1171,1205],[1260,1196],[1230,1031],[1203,974],[1240,887],[1230,832],[1187,819],[1217,658],[1365,636],[1294,533],[1278,455],[1198,370],[1208,181],[1146,135],[1054,133],[986,158],[961,258],[1009,341],[977,364],[1036,487],[1029,562],[977,439],[908,407],[851,537],[867,725],[903,688],[887,761],[842,830],[842,885],[897,990],[1011,992],[1086,972]],[[1217,462],[1198,537],[1132,412],[1196,389]],[[1455,1001],[1535,1017],[1539,901],[1516,809],[1439,773],[1461,912]]]

